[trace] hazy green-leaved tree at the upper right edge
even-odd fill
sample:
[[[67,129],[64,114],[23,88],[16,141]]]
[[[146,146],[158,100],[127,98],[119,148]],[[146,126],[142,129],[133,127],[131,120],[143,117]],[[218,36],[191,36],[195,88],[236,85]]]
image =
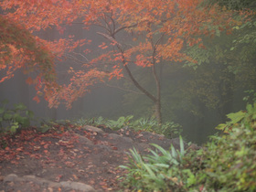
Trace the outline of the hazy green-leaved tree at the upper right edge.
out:
[[[213,3],[213,1],[208,2]],[[212,107],[217,107],[220,116],[224,117],[232,110],[235,91],[255,89],[255,2],[219,0],[215,3],[221,5],[224,10],[248,10],[251,13],[246,21],[233,27],[231,35],[219,33],[219,37],[216,37],[214,41],[204,37],[204,45],[207,49],[203,50],[195,46],[189,48],[188,51],[188,54],[197,59],[199,64],[204,64],[204,67],[200,68],[209,69],[212,75],[211,80],[208,81],[207,72],[198,73],[202,77],[205,76],[201,82],[210,83],[205,86],[208,87],[208,91],[202,89],[198,91],[197,95],[205,98],[206,104],[210,103]],[[240,18],[240,15],[234,13],[234,17]],[[191,86],[191,88],[195,88],[195,86]],[[215,101],[212,101],[213,95],[215,95]]]

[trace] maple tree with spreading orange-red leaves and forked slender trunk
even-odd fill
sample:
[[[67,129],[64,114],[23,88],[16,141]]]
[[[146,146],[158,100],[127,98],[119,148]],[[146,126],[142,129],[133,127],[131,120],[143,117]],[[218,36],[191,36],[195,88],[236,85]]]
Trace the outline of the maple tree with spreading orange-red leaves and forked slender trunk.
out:
[[[157,68],[177,61],[196,63],[184,48],[195,45],[204,48],[202,36],[214,37],[219,30],[229,33],[230,26],[238,24],[231,11],[222,11],[217,5],[205,7],[203,0],[3,0],[1,9],[4,12],[1,25],[2,21],[5,24],[0,28],[0,35],[9,39],[0,38],[0,46],[4,48],[0,52],[0,69],[6,69],[2,81],[17,68],[38,71],[34,80],[27,80],[36,84],[38,94],[44,91],[51,107],[61,101],[70,107],[95,83],[127,78],[153,101],[158,123],[162,122],[162,114]],[[100,46],[102,52],[84,62],[85,69],[76,70],[70,64],[69,84],[58,85],[54,58],[73,50],[79,43],[70,44],[70,39],[48,42],[31,33],[51,26],[61,31],[61,24],[71,25],[77,20],[88,29],[101,27],[97,34],[105,39]],[[22,28],[23,32],[13,31],[16,37],[8,37],[8,28],[16,31]],[[136,80],[131,70],[134,66],[151,69],[155,92],[146,90]]]

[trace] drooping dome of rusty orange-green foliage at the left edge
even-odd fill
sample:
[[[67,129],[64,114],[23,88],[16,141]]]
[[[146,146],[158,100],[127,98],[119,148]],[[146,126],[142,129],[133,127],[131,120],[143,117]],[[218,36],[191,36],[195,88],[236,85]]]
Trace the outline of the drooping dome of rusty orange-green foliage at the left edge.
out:
[[[58,86],[53,59],[51,51],[37,37],[0,16],[0,69],[5,71],[0,82],[12,78],[16,69],[22,68],[25,73],[37,72],[37,76],[32,74],[34,79],[29,77],[27,83],[35,84],[37,90],[50,92]],[[37,93],[40,94],[39,91]]]

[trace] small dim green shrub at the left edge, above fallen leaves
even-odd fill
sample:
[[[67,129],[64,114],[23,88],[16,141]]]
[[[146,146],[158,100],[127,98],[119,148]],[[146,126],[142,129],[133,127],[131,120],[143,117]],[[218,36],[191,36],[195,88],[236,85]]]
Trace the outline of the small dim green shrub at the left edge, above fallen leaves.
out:
[[[14,104],[14,109],[6,109],[7,100],[2,101],[0,107],[0,129],[2,132],[10,131],[16,133],[18,128],[26,128],[30,125],[30,119],[34,112],[27,110],[23,103]]]

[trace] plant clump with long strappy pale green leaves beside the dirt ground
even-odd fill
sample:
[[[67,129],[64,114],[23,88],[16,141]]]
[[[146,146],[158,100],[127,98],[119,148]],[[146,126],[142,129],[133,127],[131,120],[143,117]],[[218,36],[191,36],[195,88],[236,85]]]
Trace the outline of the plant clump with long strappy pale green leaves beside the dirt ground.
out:
[[[123,185],[137,191],[180,191],[184,184],[182,180],[190,173],[186,170],[180,174],[183,158],[186,154],[182,138],[180,137],[180,151],[171,146],[170,151],[165,151],[161,146],[151,150],[152,155],[141,156],[133,149],[130,150],[129,165],[120,167],[128,170]],[[191,177],[191,176],[190,176]]]

